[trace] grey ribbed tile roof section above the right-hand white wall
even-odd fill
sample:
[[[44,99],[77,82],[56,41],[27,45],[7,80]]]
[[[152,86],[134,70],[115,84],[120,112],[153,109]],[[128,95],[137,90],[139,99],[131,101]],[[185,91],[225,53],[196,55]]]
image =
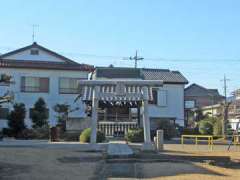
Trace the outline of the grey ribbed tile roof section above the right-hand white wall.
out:
[[[179,71],[143,68],[142,74],[146,80],[163,80],[165,83],[188,83],[188,80]]]

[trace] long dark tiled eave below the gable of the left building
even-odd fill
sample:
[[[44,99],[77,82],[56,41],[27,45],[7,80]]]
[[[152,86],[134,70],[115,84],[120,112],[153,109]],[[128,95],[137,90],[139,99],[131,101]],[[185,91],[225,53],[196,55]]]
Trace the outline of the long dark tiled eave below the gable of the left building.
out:
[[[76,70],[93,71],[94,67],[76,62],[49,62],[49,61],[26,61],[0,59],[0,67],[5,68],[29,68],[29,69],[54,69],[54,70]]]

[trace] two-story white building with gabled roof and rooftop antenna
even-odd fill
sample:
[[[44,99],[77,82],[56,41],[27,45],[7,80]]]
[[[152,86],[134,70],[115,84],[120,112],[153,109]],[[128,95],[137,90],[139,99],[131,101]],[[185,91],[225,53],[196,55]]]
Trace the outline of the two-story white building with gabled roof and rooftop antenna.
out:
[[[49,109],[49,123],[57,123],[53,107],[56,104],[68,104],[72,109],[70,118],[85,117],[85,107],[81,101],[74,103],[79,94],[78,80],[88,79],[93,66],[79,64],[37,43],[0,56],[0,74],[12,76],[12,84],[1,83],[0,95],[11,91],[14,102],[22,102],[26,107],[25,123],[31,127],[30,110],[39,97],[42,97]],[[0,128],[7,127],[6,115],[12,104],[3,104],[0,108]]]

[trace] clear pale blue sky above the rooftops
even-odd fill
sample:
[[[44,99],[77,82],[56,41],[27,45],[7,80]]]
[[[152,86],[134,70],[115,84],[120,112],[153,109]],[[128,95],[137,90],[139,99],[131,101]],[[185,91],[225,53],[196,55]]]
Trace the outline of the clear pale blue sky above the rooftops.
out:
[[[1,1],[0,53],[36,41],[78,62],[181,71],[191,83],[222,92],[240,88],[239,0]]]

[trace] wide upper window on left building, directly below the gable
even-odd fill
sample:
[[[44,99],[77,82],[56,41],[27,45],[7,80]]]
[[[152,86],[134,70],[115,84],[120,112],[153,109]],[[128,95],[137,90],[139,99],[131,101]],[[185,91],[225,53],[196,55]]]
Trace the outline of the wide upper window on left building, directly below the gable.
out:
[[[21,77],[22,92],[49,92],[49,78]]]

